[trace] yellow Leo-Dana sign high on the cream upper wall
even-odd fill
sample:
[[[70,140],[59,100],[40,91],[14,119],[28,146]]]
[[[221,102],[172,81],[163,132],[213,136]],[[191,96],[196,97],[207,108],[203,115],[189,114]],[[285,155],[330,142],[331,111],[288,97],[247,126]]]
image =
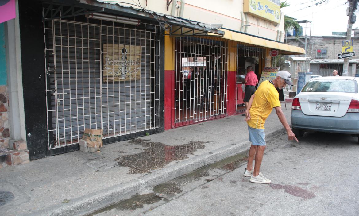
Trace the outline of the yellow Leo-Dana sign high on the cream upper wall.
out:
[[[244,0],[243,12],[279,24],[280,0]]]

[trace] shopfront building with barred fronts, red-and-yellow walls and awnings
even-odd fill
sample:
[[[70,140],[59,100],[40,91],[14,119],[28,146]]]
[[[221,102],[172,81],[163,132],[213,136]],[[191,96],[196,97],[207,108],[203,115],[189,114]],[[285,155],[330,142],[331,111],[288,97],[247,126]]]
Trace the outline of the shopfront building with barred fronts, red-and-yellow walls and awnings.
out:
[[[260,76],[271,50],[304,54],[283,43],[280,1],[15,3],[4,86],[18,118],[7,138],[31,160],[78,150],[85,128],[106,144],[244,112],[247,66]],[[273,10],[260,14],[264,5]]]

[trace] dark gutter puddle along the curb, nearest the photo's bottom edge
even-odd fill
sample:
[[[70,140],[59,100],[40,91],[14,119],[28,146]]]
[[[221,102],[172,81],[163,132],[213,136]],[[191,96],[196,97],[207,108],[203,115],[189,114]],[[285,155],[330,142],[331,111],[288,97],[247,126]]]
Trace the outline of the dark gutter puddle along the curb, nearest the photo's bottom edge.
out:
[[[148,193],[143,195],[137,195],[130,199],[126,199],[122,202],[116,203],[112,206],[108,206],[99,211],[96,211],[88,216],[94,216],[102,212],[110,211],[112,209],[116,210],[136,210],[137,208],[143,208],[144,204],[152,204],[160,201],[161,198],[156,196],[154,193]]]

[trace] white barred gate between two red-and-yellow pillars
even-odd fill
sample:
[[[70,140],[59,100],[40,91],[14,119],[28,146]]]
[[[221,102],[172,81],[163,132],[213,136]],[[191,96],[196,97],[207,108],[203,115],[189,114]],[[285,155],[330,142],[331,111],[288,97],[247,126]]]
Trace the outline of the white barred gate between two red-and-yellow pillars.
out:
[[[227,43],[176,38],[174,127],[227,113]]]

